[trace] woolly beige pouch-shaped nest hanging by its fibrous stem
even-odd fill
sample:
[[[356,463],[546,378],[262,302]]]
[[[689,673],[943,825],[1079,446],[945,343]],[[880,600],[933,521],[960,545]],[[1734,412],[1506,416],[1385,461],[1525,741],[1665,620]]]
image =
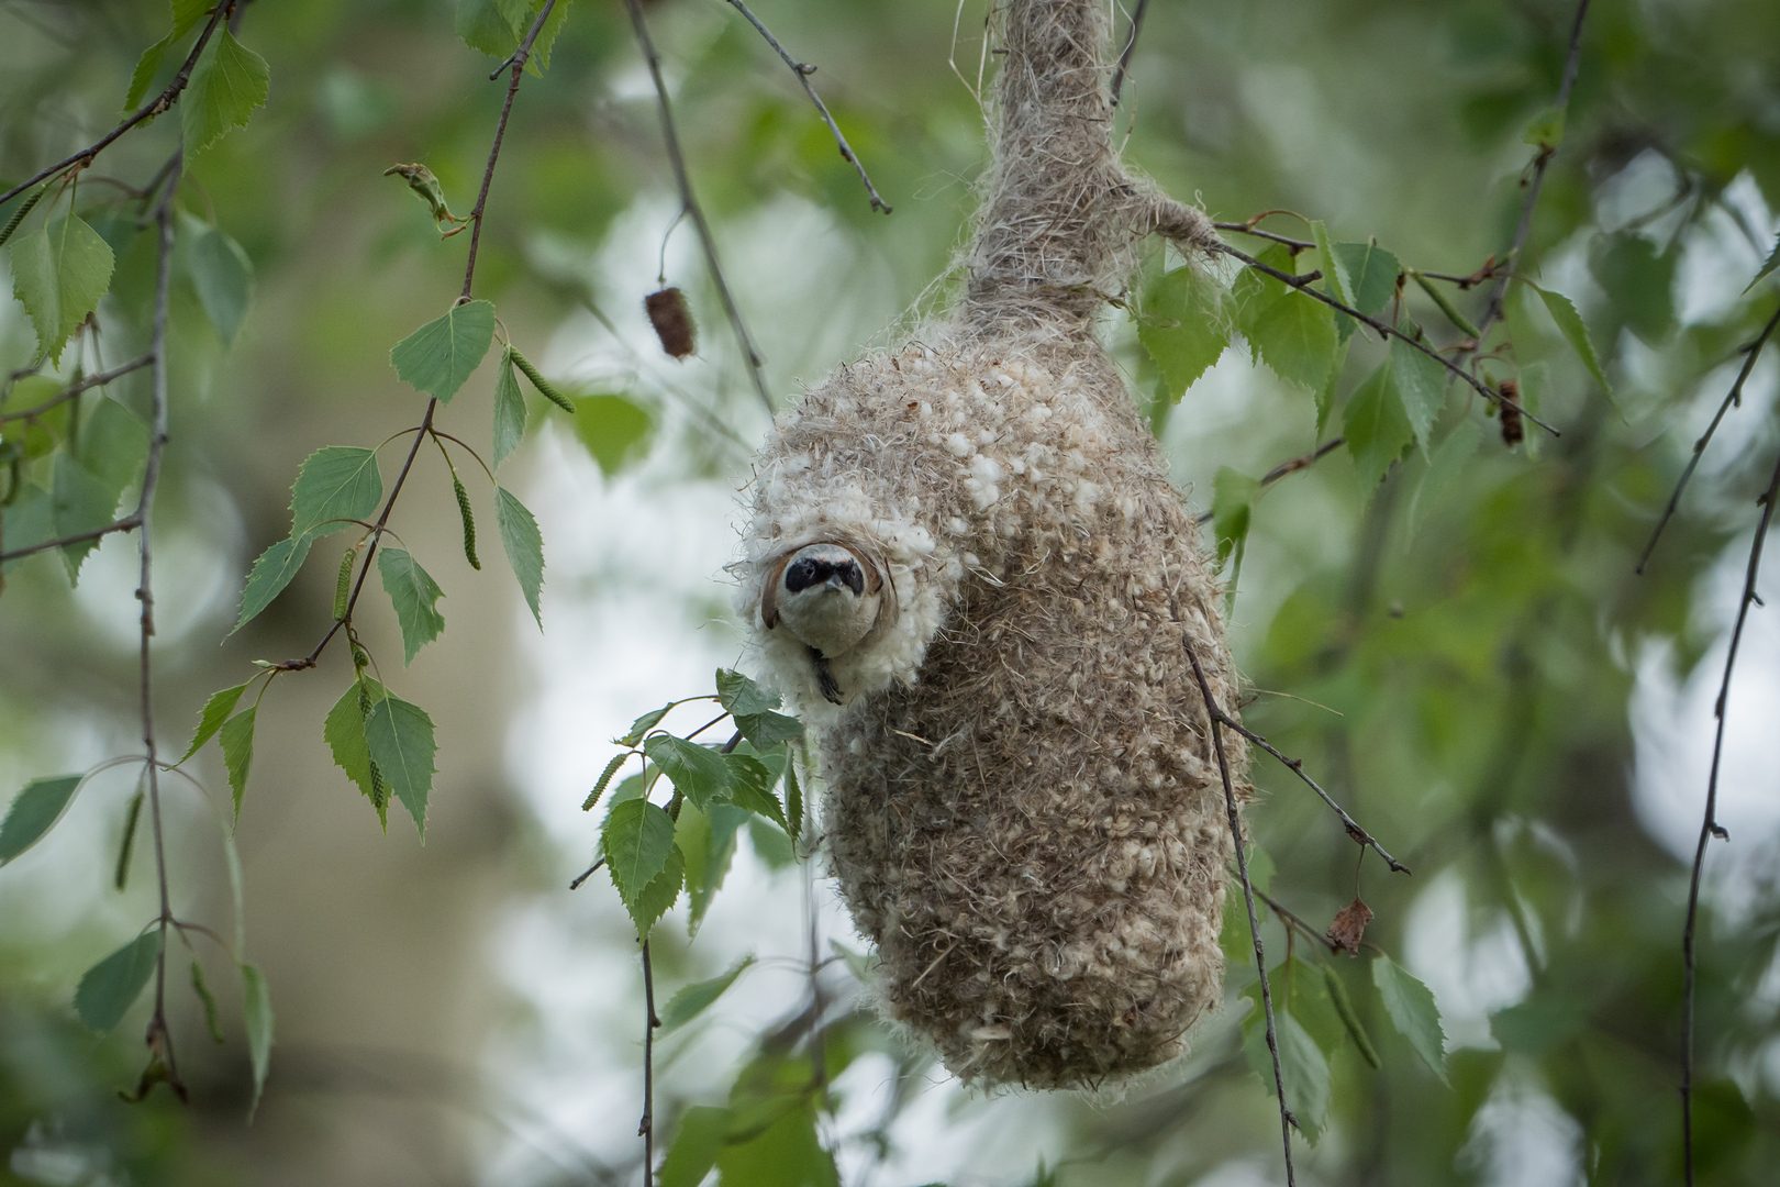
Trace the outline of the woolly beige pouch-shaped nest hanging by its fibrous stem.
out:
[[[1212,230],[1118,164],[1104,0],[999,18],[961,306],[778,418],[739,600],[819,735],[881,1009],[965,1080],[1080,1087],[1177,1055],[1221,993],[1230,835],[1185,639],[1225,708],[1237,682],[1093,335],[1145,235]]]

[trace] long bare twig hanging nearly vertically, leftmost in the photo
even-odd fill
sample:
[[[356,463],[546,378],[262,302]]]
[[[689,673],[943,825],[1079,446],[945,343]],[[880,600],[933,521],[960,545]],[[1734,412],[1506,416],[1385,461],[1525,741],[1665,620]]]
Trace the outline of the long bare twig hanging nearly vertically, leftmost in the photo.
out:
[[[214,27],[215,18],[210,23]],[[180,153],[174,153],[174,160],[180,160]],[[155,210],[155,224],[160,233],[160,251],[155,262],[155,329],[150,347],[150,354],[155,358],[155,413],[148,438],[148,466],[142,470],[142,495],[135,505],[135,521],[142,529],[137,534],[142,568],[135,596],[142,603],[139,657],[142,747],[148,758],[148,815],[155,828],[155,877],[160,884],[160,956],[155,959],[155,1014],[148,1023],[148,1046],[166,1064],[167,1084],[180,1100],[185,1100],[185,1086],[180,1082],[180,1070],[173,1057],[173,1034],[167,1030],[167,925],[173,922],[173,904],[167,895],[167,847],[160,824],[160,760],[155,753],[155,696],[150,669],[150,639],[155,635],[155,589],[151,584],[155,489],[160,484],[160,459],[167,447],[167,310],[173,294],[173,196],[178,190],[178,169],[180,166],[174,164],[174,182],[166,189],[160,206]]]

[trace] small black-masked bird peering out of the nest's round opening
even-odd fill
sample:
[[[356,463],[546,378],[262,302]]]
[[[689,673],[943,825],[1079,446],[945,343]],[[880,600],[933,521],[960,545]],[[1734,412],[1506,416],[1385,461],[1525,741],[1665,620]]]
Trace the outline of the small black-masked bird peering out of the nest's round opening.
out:
[[[769,569],[760,619],[767,630],[783,623],[810,650],[815,683],[833,705],[842,696],[828,662],[851,651],[878,625],[883,584],[883,571],[869,555],[828,539],[783,553]]]

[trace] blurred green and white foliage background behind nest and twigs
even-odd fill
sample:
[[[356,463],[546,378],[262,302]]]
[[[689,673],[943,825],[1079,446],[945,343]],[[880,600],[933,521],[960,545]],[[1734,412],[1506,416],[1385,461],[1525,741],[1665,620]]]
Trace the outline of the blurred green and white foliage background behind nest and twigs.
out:
[[[813,82],[890,217],[872,214],[794,78],[730,5],[644,7],[776,399],[943,308],[986,160],[974,96],[993,71],[984,4],[755,5],[821,68]],[[117,1100],[139,1073],[146,1004],[105,1038],[75,1020],[82,970],[155,913],[141,845],[128,888],[112,888],[130,771],[93,779],[41,845],[0,870],[0,1182],[641,1178],[634,936],[603,881],[564,886],[596,835],[578,806],[605,740],[664,699],[708,692],[712,667],[739,657],[721,566],[765,416],[691,228],[675,228],[625,9],[566,11],[548,69],[520,89],[477,271],[477,295],[578,409],[529,393],[532,429],[504,475],[543,525],[546,634],[498,561],[481,573],[463,562],[450,479],[422,454],[392,527],[445,587],[445,635],[400,669],[386,607],[361,630],[384,680],[438,724],[427,844],[406,819],[383,833],[329,762],[320,723],[351,682],[344,651],[274,682],[235,833],[247,949],[278,1011],[251,1126],[233,982],[222,1045],[205,1038],[196,998],[173,993],[183,1107],[166,1091]],[[1127,158],[1218,219],[1290,208],[1337,238],[1376,237],[1413,267],[1468,274],[1511,240],[1533,157],[1522,132],[1558,93],[1574,11],[1155,0],[1120,107]],[[381,174],[425,162],[465,214],[506,93],[506,75],[486,80],[497,59],[452,27],[443,0],[255,0],[240,12],[240,41],[271,64],[271,98],[189,162],[178,192],[182,214],[244,247],[253,295],[226,343],[189,281],[174,290],[157,536],[164,749],[183,747],[205,698],[246,680],[249,660],[303,655],[331,621],[322,548],[217,648],[247,566],[287,530],[303,457],[376,445],[418,415],[388,351],[456,295],[468,237],[440,240]],[[0,30],[9,187],[114,126],[166,5],[7,0]],[[1485,432],[1463,452],[1435,450],[1447,464],[1412,452],[1372,488],[1337,450],[1253,504],[1232,619],[1255,687],[1244,717],[1415,870],[1390,876],[1372,860],[1356,872],[1323,806],[1287,772],[1257,767],[1266,888],[1315,929],[1363,897],[1376,911],[1367,940],[1433,988],[1447,1043],[1442,1082],[1365,991],[1360,963],[1335,957],[1381,1068],[1335,1036],[1328,1118],[1315,1146],[1298,1146],[1301,1182],[1679,1182],[1687,861],[1753,498],[1780,448],[1773,349],[1648,571],[1634,564],[1739,345],[1780,299],[1773,279],[1744,292],[1780,210],[1775,46],[1771,0],[1590,7],[1565,139],[1517,269],[1577,303],[1616,402],[1543,313],[1515,303],[1515,361],[1545,365],[1540,415],[1561,438],[1529,427],[1525,445],[1504,447],[1497,422],[1454,393],[1442,436],[1465,420]],[[176,125],[160,119],[100,158],[80,185],[89,219],[123,205],[96,174],[141,185]],[[1287,217],[1267,226],[1305,235]],[[144,340],[150,238],[119,231],[89,370]],[[1164,263],[1159,251],[1148,276]],[[659,279],[692,301],[700,352],[685,363],[660,354],[643,317]],[[1413,290],[1408,301],[1438,320]],[[1481,313],[1476,290],[1458,301]],[[1319,443],[1310,393],[1253,367],[1241,342],[1173,406],[1137,327],[1118,311],[1105,333],[1198,507],[1221,466],[1260,477]],[[1353,354],[1323,440],[1381,358],[1358,338]],[[32,361],[30,322],[9,303],[0,365]],[[141,408],[146,383],[137,372],[110,395]],[[493,361],[441,427],[481,448],[491,393]],[[488,559],[488,488],[472,493]],[[137,749],[134,564],[134,541],[110,537],[73,589],[52,555],[9,568],[7,795]],[[1760,589],[1780,596],[1780,577]],[[1780,1166],[1775,712],[1780,630],[1757,609],[1728,703],[1732,844],[1711,851],[1700,924],[1705,1183],[1762,1183]],[[226,801],[214,749],[190,769]],[[176,909],[228,931],[212,810],[176,781],[166,795]],[[1153,1078],[1096,1100],[975,1098],[862,1005],[858,959],[826,963],[819,1009],[806,1009],[808,952],[858,941],[819,858],[790,861],[781,842],[760,829],[742,840],[696,938],[684,908],[655,933],[659,1009],[742,954],[760,957],[660,1039],[657,1151],[708,1121],[689,1110],[730,1102],[765,1110],[762,1139],[719,1159],[732,1185],[833,1182],[835,1166],[840,1182],[883,1187],[1283,1182],[1274,1105],[1242,1055],[1239,998],[1255,973],[1241,959],[1232,1005]],[[1278,918],[1264,938],[1273,959],[1287,956]],[[1321,959],[1312,947],[1294,941]],[[212,975],[233,973],[217,961]],[[817,1064],[833,1082],[826,1100],[797,1094]]]

